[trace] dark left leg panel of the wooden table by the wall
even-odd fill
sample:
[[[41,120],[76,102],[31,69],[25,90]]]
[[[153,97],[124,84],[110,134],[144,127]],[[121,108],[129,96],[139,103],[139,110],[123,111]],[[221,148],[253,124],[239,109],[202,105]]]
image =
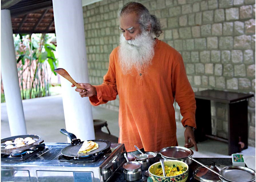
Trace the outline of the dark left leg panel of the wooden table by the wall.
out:
[[[211,126],[211,101],[205,99],[196,98],[196,124],[197,129],[195,130],[196,142],[202,142],[207,140],[207,135],[212,134]]]

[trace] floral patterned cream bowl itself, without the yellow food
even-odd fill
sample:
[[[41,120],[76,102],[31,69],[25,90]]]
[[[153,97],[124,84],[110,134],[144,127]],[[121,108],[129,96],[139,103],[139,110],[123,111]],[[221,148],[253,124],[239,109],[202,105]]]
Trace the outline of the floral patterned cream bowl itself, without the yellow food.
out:
[[[176,175],[176,176],[169,176],[169,177],[163,177],[163,176],[157,176],[156,169],[158,169],[161,166],[160,162],[156,162],[149,166],[149,177],[148,182],[185,182],[188,179],[188,165],[185,162],[178,161],[178,160],[165,160],[164,166],[172,167],[173,165],[181,165],[182,167],[186,167],[186,171],[184,173]]]

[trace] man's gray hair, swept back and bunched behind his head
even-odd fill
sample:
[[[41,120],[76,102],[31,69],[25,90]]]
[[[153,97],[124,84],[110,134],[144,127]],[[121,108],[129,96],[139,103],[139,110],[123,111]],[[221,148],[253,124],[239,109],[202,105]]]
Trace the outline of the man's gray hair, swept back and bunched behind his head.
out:
[[[159,37],[163,32],[161,30],[160,21],[155,15],[151,15],[144,5],[136,2],[129,2],[120,9],[118,15],[119,17],[122,17],[123,15],[128,15],[130,13],[137,14],[141,31],[146,31],[151,26],[150,30],[156,37]]]

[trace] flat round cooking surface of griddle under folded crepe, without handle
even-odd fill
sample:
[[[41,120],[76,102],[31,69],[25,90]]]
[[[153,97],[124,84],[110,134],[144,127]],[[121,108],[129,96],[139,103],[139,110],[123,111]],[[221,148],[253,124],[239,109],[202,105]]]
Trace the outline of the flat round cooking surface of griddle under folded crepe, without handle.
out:
[[[110,149],[111,143],[107,140],[91,140],[93,142],[96,142],[99,144],[99,148],[96,150],[93,150],[91,152],[88,152],[86,154],[78,154],[78,151],[80,147],[82,146],[83,142],[81,142],[78,145],[69,145],[61,150],[61,154],[67,157],[79,157],[79,158],[85,158],[89,157],[90,155],[99,153],[99,152],[107,152]]]

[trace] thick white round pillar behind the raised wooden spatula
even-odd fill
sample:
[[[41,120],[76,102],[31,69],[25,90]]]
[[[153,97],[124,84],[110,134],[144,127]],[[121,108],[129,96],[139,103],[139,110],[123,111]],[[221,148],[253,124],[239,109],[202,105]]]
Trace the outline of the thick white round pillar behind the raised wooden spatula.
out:
[[[53,0],[53,13],[59,68],[66,69],[76,82],[88,83],[82,0]],[[81,141],[93,140],[92,106],[71,85],[61,77],[66,130]]]

